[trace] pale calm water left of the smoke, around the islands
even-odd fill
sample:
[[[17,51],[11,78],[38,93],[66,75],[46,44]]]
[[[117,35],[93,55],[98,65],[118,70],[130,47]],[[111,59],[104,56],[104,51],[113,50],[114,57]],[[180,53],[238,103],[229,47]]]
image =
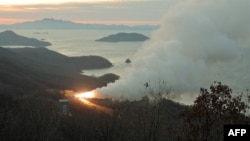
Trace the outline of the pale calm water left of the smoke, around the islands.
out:
[[[116,73],[121,75],[126,67],[126,59],[133,58],[142,42],[96,42],[101,37],[116,34],[118,32],[137,32],[150,36],[151,31],[120,31],[120,30],[15,30],[17,34],[46,40],[52,43],[50,50],[57,51],[67,56],[98,55],[107,58],[114,67],[99,70],[83,70],[86,75],[100,76],[105,73]],[[36,34],[36,33],[47,34]],[[132,60],[132,59],[131,59]]]

